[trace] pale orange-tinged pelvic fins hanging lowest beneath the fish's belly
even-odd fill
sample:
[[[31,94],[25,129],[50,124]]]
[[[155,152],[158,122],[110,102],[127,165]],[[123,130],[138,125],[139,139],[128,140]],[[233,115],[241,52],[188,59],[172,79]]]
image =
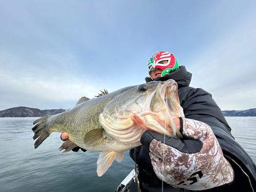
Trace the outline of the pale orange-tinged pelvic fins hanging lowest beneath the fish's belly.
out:
[[[112,165],[114,159],[118,159],[118,162],[121,162],[123,159],[124,152],[104,152],[99,155],[97,160],[97,174],[98,177],[101,177],[106,170]]]

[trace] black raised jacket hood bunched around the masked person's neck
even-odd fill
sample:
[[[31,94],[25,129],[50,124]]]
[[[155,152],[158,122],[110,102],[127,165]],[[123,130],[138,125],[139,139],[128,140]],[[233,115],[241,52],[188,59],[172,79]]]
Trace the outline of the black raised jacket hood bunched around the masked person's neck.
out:
[[[180,66],[176,71],[164,77],[157,77],[154,79],[154,81],[166,81],[168,79],[174,79],[178,84],[178,88],[181,88],[189,86],[191,78],[192,74],[186,70],[186,67]],[[150,77],[146,77],[145,80],[146,82],[153,81]]]

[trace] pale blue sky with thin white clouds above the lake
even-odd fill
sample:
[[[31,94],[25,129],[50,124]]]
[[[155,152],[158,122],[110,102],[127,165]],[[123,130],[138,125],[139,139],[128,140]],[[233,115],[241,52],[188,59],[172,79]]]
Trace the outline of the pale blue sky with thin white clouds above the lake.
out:
[[[221,110],[256,108],[256,1],[0,1],[0,110],[142,84],[156,51]]]

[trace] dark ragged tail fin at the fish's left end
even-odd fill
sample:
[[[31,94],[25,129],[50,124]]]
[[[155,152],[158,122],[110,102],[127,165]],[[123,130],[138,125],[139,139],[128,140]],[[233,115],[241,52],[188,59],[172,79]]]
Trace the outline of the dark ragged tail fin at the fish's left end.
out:
[[[37,148],[51,133],[47,131],[46,120],[49,116],[41,117],[33,122],[34,126],[32,131],[34,132],[33,139],[37,139],[34,143],[34,147]]]

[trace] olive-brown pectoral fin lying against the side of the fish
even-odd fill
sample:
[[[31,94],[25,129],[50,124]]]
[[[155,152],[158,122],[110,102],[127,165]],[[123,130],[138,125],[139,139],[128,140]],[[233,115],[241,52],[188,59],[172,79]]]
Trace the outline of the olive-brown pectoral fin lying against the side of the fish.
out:
[[[84,136],[84,144],[87,147],[92,146],[93,144],[97,143],[98,141],[104,139],[104,132],[105,130],[103,128],[99,128],[99,129],[94,129],[89,131],[86,136]]]

